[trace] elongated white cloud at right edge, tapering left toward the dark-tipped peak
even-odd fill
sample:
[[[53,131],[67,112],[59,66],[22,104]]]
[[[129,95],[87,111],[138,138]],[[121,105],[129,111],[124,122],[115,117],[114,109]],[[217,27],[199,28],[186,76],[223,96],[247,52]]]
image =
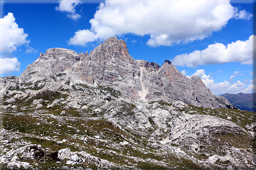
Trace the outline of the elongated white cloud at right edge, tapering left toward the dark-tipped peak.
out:
[[[252,64],[252,43],[255,35],[246,41],[236,41],[225,46],[222,43],[208,45],[204,50],[175,56],[171,61],[177,66],[197,67],[199,64],[220,64],[227,62],[241,62]]]

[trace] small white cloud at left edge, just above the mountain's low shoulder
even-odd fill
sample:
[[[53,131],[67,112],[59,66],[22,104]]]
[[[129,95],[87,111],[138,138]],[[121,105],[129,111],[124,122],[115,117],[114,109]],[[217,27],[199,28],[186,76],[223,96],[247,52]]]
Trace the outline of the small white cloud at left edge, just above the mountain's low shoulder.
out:
[[[17,58],[0,58],[0,74],[8,74],[20,70],[21,63]]]

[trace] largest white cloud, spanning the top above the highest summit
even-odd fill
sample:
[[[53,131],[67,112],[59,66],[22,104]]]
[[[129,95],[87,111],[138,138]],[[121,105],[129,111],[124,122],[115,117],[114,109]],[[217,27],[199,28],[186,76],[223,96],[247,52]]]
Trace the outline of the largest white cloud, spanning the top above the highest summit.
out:
[[[78,30],[69,44],[86,45],[110,36],[132,33],[150,35],[150,46],[188,43],[209,37],[229,19],[250,19],[247,11],[239,11],[229,0],[106,0],[100,3],[90,30]],[[90,38],[86,38],[86,37]]]

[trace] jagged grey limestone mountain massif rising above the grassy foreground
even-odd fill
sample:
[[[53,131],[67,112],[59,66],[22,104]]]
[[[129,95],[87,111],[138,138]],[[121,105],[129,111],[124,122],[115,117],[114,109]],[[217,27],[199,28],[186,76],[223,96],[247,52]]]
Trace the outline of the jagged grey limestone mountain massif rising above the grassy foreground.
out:
[[[99,44],[89,55],[64,48],[48,49],[15,80],[15,86],[7,82],[2,85],[4,81],[0,81],[0,92],[22,89],[27,84],[26,88],[35,89],[76,90],[96,95],[118,93],[132,100],[164,98],[202,107],[233,107],[225,98],[211,94],[198,76],[186,78],[169,60],[161,67],[155,62],[134,60],[125,41],[116,37]],[[99,87],[105,90],[98,90]]]

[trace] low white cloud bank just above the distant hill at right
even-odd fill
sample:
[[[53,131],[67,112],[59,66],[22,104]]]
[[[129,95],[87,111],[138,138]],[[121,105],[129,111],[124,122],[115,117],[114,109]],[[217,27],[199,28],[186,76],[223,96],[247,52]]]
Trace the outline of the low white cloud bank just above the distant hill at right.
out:
[[[186,72],[185,70],[183,70]],[[191,76],[199,76],[205,86],[209,88],[212,92],[212,94],[237,94],[237,93],[252,93],[253,92],[253,83],[244,81],[241,82],[240,80],[236,81],[235,83],[231,84],[233,82],[233,78],[235,78],[238,75],[238,71],[235,71],[232,76],[230,76],[229,80],[225,80],[224,82],[214,83],[213,78],[210,77],[210,75],[205,74],[204,69],[196,70],[194,74]],[[191,76],[187,76],[187,78],[191,78]]]

